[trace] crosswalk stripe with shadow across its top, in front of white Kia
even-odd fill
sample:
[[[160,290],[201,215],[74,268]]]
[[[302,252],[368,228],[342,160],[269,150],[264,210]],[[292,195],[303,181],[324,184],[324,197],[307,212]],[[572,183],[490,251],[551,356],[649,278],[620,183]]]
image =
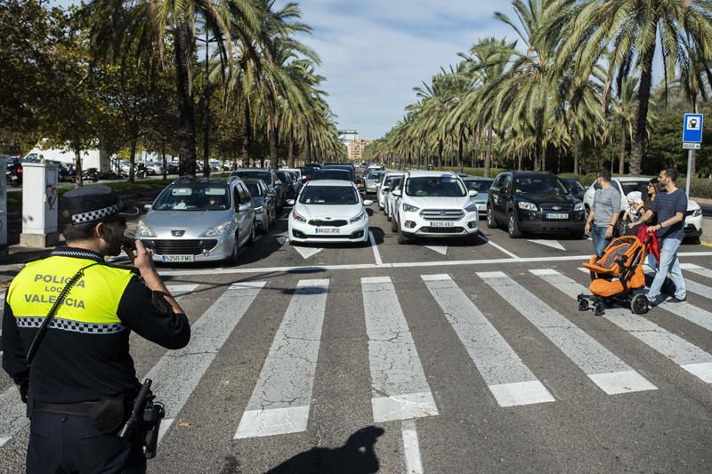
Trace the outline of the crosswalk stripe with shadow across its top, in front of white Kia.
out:
[[[328,279],[300,280],[274,336],[235,438],[306,430]]]

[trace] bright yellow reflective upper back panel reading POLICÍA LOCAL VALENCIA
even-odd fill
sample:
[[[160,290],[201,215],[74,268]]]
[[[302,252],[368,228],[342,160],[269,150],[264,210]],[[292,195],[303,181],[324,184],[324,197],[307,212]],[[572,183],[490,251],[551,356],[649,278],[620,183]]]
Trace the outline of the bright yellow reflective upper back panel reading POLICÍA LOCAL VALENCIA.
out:
[[[38,327],[69,278],[95,261],[59,255],[28,263],[7,291],[6,301],[19,327]],[[54,316],[51,328],[79,333],[118,333],[118,303],[132,277],[127,269],[104,264],[85,269]]]

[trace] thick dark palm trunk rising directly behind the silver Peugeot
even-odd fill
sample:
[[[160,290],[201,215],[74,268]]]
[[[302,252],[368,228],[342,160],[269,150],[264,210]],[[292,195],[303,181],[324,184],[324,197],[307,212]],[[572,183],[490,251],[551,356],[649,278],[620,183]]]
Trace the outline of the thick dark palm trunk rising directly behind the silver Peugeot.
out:
[[[179,18],[174,29],[175,77],[178,92],[178,150],[181,156],[179,173],[195,176],[197,159],[195,141],[195,104],[190,75],[192,37],[187,19]]]

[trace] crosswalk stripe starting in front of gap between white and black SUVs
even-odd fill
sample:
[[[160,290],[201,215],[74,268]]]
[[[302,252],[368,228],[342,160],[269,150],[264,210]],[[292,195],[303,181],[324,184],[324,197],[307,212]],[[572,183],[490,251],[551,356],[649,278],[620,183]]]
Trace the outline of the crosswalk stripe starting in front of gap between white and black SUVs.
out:
[[[657,389],[643,375],[505,273],[480,272],[477,275],[607,394]]]

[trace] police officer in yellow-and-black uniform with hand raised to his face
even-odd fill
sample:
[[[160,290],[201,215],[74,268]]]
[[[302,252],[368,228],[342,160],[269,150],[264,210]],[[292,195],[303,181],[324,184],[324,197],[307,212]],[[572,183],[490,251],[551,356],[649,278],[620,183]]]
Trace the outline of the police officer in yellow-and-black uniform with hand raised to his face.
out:
[[[104,262],[121,252],[127,213],[138,210],[126,209],[107,186],[69,191],[60,202],[67,246],[28,263],[6,293],[3,368],[28,403],[30,473],[146,470],[140,430],[117,437],[140,388],[129,334],[181,349],[190,325],[141,241],[125,249],[137,272]],[[38,327],[63,290],[28,364]]]

